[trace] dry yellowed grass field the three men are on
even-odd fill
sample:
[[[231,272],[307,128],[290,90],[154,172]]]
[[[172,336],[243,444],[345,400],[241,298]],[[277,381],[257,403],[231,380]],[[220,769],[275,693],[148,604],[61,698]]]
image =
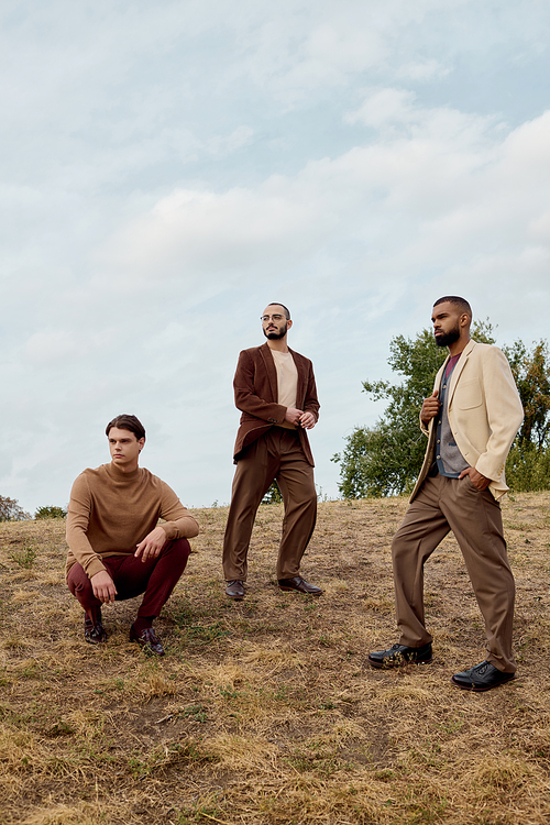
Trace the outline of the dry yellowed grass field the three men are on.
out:
[[[196,510],[161,660],[128,640],[135,602],[105,610],[106,646],[85,642],[63,521],[1,524],[0,823],[549,823],[550,494],[504,505],[519,671],[482,694],[450,683],[485,658],[452,538],[427,566],[433,664],[366,664],[397,640],[405,506],[320,505],[302,566],[318,600],[275,586],[280,507],[262,506],[241,603],[221,581],[227,508]]]

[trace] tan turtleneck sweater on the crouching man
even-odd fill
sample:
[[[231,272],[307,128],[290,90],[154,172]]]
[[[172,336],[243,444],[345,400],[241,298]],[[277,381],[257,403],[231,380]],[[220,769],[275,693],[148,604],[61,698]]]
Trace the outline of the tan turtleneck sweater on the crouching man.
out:
[[[79,562],[91,579],[105,570],[101,557],[135,552],[160,518],[167,541],[199,532],[174,491],[148,470],[123,473],[112,463],[85,470],[70,491],[65,573]]]

